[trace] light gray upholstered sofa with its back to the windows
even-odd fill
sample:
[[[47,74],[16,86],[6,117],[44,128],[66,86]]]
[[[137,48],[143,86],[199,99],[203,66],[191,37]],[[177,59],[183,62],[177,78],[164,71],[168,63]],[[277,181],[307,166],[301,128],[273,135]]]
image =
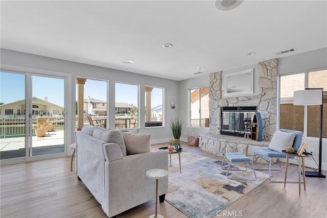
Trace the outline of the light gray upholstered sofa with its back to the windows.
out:
[[[126,155],[128,149],[126,152],[122,135],[118,130],[91,126],[84,126],[81,131],[75,132],[78,179],[82,180],[109,217],[155,198],[156,182],[146,176],[148,169],[168,171],[167,151]],[[146,134],[133,135],[142,137]],[[150,146],[150,141],[148,143]],[[168,191],[168,178],[160,179],[158,184],[159,201],[163,202]]]

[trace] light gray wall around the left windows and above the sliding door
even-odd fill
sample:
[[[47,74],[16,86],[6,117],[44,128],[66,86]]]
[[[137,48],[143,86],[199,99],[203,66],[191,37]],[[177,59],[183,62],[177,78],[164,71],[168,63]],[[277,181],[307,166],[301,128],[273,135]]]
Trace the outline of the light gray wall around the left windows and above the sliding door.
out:
[[[139,117],[141,118],[139,124],[139,133],[150,133],[151,142],[168,142],[170,139],[173,139],[173,135],[169,128],[169,120],[174,117],[178,117],[178,108],[180,108],[181,102],[179,101],[178,91],[178,81],[168,80],[168,79],[158,79],[156,77],[145,76],[140,74],[134,74],[131,72],[114,70],[104,67],[92,66],[87,64],[81,64],[77,62],[64,61],[54,58],[48,58],[43,56],[31,55],[26,53],[20,53],[10,50],[1,49],[1,64],[13,65],[18,67],[28,67],[40,70],[51,70],[56,72],[62,72],[65,74],[72,75],[72,84],[73,87],[69,90],[68,95],[71,96],[73,100],[71,102],[71,108],[75,108],[75,96],[76,96],[76,77],[88,77],[93,79],[109,80],[109,99],[108,102],[114,101],[114,85],[115,82],[126,82],[139,84],[140,86],[140,96],[139,96]],[[152,127],[145,128],[144,119],[145,111],[142,108],[145,108],[145,86],[156,86],[165,88],[165,98],[164,98],[164,116],[166,127]],[[170,102],[174,99],[176,103],[175,110],[170,109]],[[110,104],[108,114],[114,114],[114,104]],[[73,109],[73,116],[71,116],[71,122],[75,123],[75,110]],[[110,125],[112,124],[112,125]],[[109,116],[109,128],[114,128],[114,116]],[[74,129],[75,125],[71,128],[71,142],[75,141]]]

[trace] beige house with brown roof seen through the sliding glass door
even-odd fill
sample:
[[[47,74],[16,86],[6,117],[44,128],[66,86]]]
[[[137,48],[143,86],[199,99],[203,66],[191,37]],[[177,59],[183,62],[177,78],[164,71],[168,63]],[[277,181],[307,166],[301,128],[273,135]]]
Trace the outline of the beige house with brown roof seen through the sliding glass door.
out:
[[[26,113],[25,99],[18,100],[16,102],[10,102],[0,105],[1,117],[15,117],[24,116]],[[48,98],[45,96],[44,100],[37,97],[33,97],[32,115],[62,115],[64,108],[48,102]]]

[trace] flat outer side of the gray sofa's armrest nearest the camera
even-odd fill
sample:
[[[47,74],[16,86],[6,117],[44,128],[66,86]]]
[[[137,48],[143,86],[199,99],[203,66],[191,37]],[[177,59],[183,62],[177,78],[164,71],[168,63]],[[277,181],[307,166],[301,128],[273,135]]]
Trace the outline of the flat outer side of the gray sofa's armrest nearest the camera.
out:
[[[155,198],[156,181],[146,176],[151,168],[168,171],[168,152],[151,151],[105,161],[105,213],[111,217]],[[160,179],[158,196],[168,192],[168,177]]]

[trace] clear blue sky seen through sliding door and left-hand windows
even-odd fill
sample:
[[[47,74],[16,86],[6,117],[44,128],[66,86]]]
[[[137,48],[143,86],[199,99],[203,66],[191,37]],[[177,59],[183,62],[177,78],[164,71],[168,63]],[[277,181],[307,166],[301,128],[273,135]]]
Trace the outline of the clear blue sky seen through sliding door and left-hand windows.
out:
[[[57,78],[32,76],[32,95],[44,100],[64,106],[64,80]],[[0,102],[10,103],[25,99],[25,75],[0,73]],[[76,86],[76,99],[77,99]],[[132,84],[116,83],[115,102],[128,103],[137,106],[138,86]],[[87,79],[84,85],[84,99],[90,98],[102,101],[107,100],[107,82]],[[162,104],[162,89],[154,88],[151,92],[151,107]]]

